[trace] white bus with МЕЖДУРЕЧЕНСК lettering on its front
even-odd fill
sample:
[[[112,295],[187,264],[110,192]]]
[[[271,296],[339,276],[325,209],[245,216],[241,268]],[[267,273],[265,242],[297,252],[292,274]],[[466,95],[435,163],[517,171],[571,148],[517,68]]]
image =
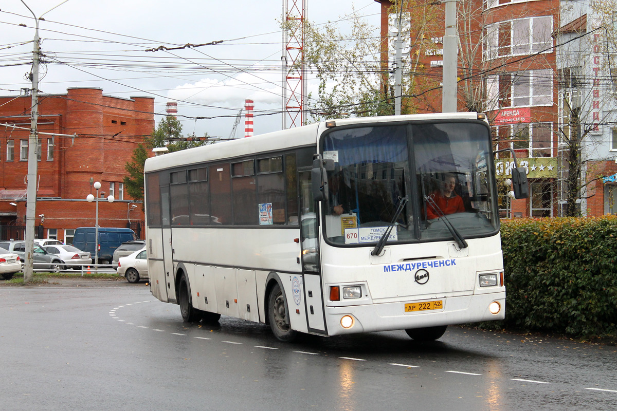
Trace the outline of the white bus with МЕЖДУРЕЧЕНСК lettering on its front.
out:
[[[149,158],[152,294],[187,322],[230,315],[281,341],[435,340],[449,324],[503,319],[485,118],[326,121]]]

